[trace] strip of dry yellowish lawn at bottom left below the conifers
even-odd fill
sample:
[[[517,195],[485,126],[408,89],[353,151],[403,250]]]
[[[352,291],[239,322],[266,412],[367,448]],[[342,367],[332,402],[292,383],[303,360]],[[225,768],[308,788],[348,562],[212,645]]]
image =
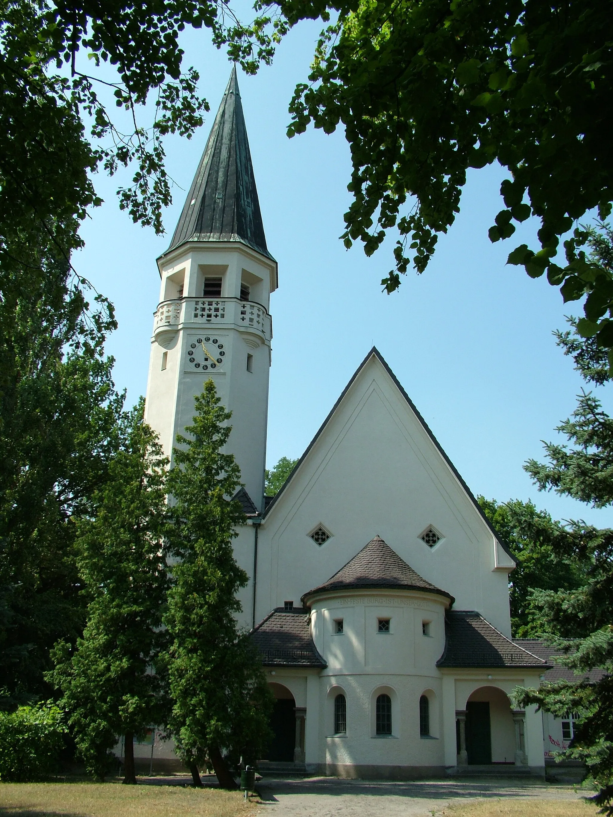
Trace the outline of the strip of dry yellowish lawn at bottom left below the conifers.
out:
[[[250,817],[242,792],[119,783],[0,783],[0,817]]]

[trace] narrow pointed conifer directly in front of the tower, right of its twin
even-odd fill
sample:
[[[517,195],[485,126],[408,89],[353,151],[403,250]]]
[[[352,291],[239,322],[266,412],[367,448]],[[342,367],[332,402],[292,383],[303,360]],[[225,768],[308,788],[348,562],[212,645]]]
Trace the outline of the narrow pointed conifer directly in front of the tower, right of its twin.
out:
[[[173,709],[171,731],[180,756],[200,785],[198,765],[211,761],[223,788],[236,788],[239,758],[261,757],[269,738],[270,694],[260,660],[235,616],[247,574],[233,556],[236,526],[245,516],[230,497],[240,485],[233,455],[223,453],[231,414],[211,380],[195,400],[193,425],[177,435],[168,478],[175,528],[173,586],[165,623]]]

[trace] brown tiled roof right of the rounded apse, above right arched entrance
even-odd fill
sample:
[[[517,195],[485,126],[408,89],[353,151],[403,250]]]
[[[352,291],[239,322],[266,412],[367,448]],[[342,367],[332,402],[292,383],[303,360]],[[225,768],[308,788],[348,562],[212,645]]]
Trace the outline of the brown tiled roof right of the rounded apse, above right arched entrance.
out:
[[[448,611],[445,635],[445,652],[437,667],[547,667],[543,659],[510,641],[474,610]]]

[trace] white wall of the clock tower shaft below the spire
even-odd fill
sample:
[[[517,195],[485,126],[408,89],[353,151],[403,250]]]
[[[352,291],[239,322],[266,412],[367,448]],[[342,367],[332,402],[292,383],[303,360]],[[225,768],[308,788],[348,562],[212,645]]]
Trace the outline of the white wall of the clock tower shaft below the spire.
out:
[[[154,321],[145,418],[171,455],[177,433],[192,421],[195,395],[211,377],[222,404],[233,414],[228,449],[241,467],[247,493],[261,509],[272,337],[267,310],[271,285],[276,286],[276,265],[241,243],[211,242],[184,244],[162,257],[159,268],[161,305],[175,311],[170,324],[160,326]],[[224,319],[210,323],[195,319],[195,302],[204,300],[205,275],[222,277],[222,299],[238,299],[241,281],[248,282],[250,304],[256,302],[266,310],[257,313],[262,315],[260,326],[255,326],[251,313],[242,315],[238,300],[225,301]],[[224,345],[224,363],[206,373],[189,365],[190,344],[202,337],[211,337],[207,345],[211,354],[213,338]],[[247,355],[251,355],[251,371],[247,371]]]

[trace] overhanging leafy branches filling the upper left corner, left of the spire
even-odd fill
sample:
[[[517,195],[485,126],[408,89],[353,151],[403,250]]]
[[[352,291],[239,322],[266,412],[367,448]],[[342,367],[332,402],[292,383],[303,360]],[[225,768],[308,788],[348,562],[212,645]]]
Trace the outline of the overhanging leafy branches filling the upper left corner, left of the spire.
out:
[[[131,183],[118,190],[120,207],[161,232],[162,207],[171,202],[163,137],[191,136],[208,110],[196,93],[198,73],[182,71],[180,33],[208,29],[215,46],[226,44],[230,59],[254,73],[286,28],[278,17],[270,35],[269,16],[242,25],[220,0],[125,0],[104,8],[3,0],[0,254],[20,261],[16,239],[34,230],[68,260],[87,208],[100,203],[92,173],[113,175],[132,163]],[[142,123],[150,97],[153,116]]]

